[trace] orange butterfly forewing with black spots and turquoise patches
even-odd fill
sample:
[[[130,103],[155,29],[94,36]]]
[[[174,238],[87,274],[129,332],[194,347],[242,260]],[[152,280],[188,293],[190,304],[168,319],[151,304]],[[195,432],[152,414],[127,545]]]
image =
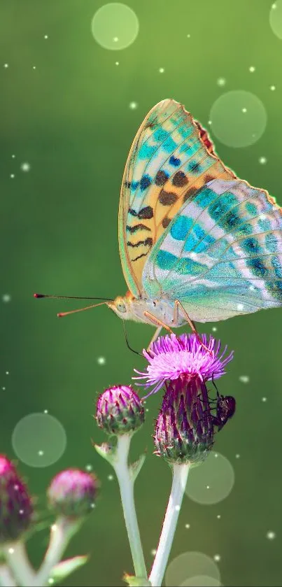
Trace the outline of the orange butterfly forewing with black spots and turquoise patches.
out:
[[[183,202],[213,178],[234,177],[184,106],[171,99],[154,106],[132,143],[120,194],[120,258],[133,295],[141,295],[150,250]]]

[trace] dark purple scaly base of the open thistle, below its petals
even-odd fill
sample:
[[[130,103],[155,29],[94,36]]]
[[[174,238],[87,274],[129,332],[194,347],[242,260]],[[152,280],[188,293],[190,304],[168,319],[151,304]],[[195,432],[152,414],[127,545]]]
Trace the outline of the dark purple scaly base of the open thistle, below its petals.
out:
[[[198,376],[167,383],[155,426],[155,453],[171,463],[197,465],[213,446],[213,416]]]

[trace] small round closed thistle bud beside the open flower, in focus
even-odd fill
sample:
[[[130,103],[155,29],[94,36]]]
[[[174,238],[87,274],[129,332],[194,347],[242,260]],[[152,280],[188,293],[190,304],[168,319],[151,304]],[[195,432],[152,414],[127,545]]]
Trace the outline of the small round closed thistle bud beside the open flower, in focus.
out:
[[[108,434],[129,434],[143,424],[144,408],[132,387],[113,386],[99,396],[96,419]]]

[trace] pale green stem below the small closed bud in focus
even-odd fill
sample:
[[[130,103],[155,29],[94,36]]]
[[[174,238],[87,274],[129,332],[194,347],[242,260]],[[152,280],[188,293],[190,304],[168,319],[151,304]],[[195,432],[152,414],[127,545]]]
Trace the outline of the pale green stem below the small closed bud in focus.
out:
[[[146,565],[134,504],[134,475],[130,471],[127,462],[131,439],[131,434],[120,434],[118,436],[115,460],[112,464],[120,486],[120,497],[122,500],[123,515],[125,516],[129,546],[132,551],[134,572],[136,577],[147,579]]]

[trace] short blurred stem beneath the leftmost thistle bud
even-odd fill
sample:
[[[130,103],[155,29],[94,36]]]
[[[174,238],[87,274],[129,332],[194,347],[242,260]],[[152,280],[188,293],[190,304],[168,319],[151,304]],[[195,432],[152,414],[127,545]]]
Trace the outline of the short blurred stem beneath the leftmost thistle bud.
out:
[[[6,563],[17,581],[17,585],[29,587],[35,577],[34,569],[29,563],[24,542],[13,542],[3,548]]]

